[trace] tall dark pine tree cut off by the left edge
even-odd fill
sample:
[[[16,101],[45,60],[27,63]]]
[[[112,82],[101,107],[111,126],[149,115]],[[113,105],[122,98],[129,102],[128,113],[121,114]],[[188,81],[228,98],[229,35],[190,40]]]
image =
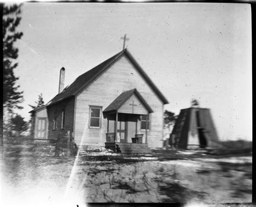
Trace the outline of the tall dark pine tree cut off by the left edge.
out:
[[[23,92],[18,90],[18,77],[14,74],[18,66],[18,63],[14,63],[18,57],[14,43],[23,35],[16,31],[21,21],[20,13],[21,5],[3,5],[3,106],[11,113],[14,108],[23,108],[19,105],[23,102]]]

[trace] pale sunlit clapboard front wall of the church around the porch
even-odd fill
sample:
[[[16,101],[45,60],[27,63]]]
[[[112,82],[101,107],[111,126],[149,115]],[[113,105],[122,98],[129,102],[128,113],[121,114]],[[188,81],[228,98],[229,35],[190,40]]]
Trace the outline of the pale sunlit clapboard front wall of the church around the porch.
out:
[[[116,61],[102,75],[76,95],[76,143],[81,145],[104,146],[107,120],[102,118],[102,126],[99,129],[90,129],[89,105],[102,106],[104,111],[118,95],[133,88],[137,88],[140,95],[143,96],[143,99],[153,110],[151,114],[151,128],[147,133],[149,147],[162,147],[163,102],[161,102],[157,94],[126,56]],[[128,130],[129,141],[131,137],[134,137],[135,123],[129,123]],[[132,131],[130,132],[130,130]],[[138,133],[145,134],[145,130],[140,130],[139,123]]]

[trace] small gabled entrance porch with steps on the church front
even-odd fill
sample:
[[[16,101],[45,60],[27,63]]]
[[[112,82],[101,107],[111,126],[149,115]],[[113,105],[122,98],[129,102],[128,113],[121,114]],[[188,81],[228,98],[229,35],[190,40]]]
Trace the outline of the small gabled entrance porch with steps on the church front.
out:
[[[136,89],[120,94],[103,111],[107,119],[105,147],[116,151],[118,146],[122,153],[150,153],[147,129],[149,113],[152,112]],[[138,120],[142,115],[146,116],[144,134],[138,133]]]

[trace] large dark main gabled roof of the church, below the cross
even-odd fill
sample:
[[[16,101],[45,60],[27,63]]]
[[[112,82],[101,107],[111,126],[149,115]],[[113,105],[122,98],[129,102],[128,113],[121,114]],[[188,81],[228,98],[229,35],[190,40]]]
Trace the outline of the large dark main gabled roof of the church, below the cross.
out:
[[[90,84],[93,80],[95,80],[100,74],[102,74],[107,68],[109,68],[113,63],[115,63],[120,57],[124,56],[124,54],[132,61],[133,65],[136,66],[137,70],[144,77],[144,79],[149,83],[154,92],[158,95],[158,97],[163,101],[163,103],[169,103],[163,94],[158,90],[158,88],[153,84],[150,78],[146,75],[146,73],[142,70],[142,68],[138,65],[136,60],[131,56],[131,54],[127,51],[127,49],[117,53],[113,57],[105,60],[103,63],[98,66],[92,68],[90,71],[85,72],[80,75],[71,85],[64,88],[64,90],[57,94],[51,101],[49,101],[49,105],[53,105],[59,101],[62,101],[66,98],[69,98],[72,95],[76,95],[79,93],[81,89]]]

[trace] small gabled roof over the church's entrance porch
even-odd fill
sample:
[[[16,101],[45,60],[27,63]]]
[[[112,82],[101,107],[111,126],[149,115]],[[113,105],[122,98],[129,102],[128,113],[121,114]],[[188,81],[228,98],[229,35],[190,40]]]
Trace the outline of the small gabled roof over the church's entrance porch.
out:
[[[153,112],[153,110],[150,108],[150,106],[147,104],[147,102],[142,98],[142,96],[139,94],[136,88],[131,89],[130,91],[125,91],[121,93],[119,96],[117,96],[116,99],[113,100],[112,103],[110,103],[109,106],[107,106],[103,112],[110,112],[110,111],[117,111],[123,104],[133,95],[137,95],[138,99],[142,101],[143,105],[146,107],[147,111],[150,113]]]

